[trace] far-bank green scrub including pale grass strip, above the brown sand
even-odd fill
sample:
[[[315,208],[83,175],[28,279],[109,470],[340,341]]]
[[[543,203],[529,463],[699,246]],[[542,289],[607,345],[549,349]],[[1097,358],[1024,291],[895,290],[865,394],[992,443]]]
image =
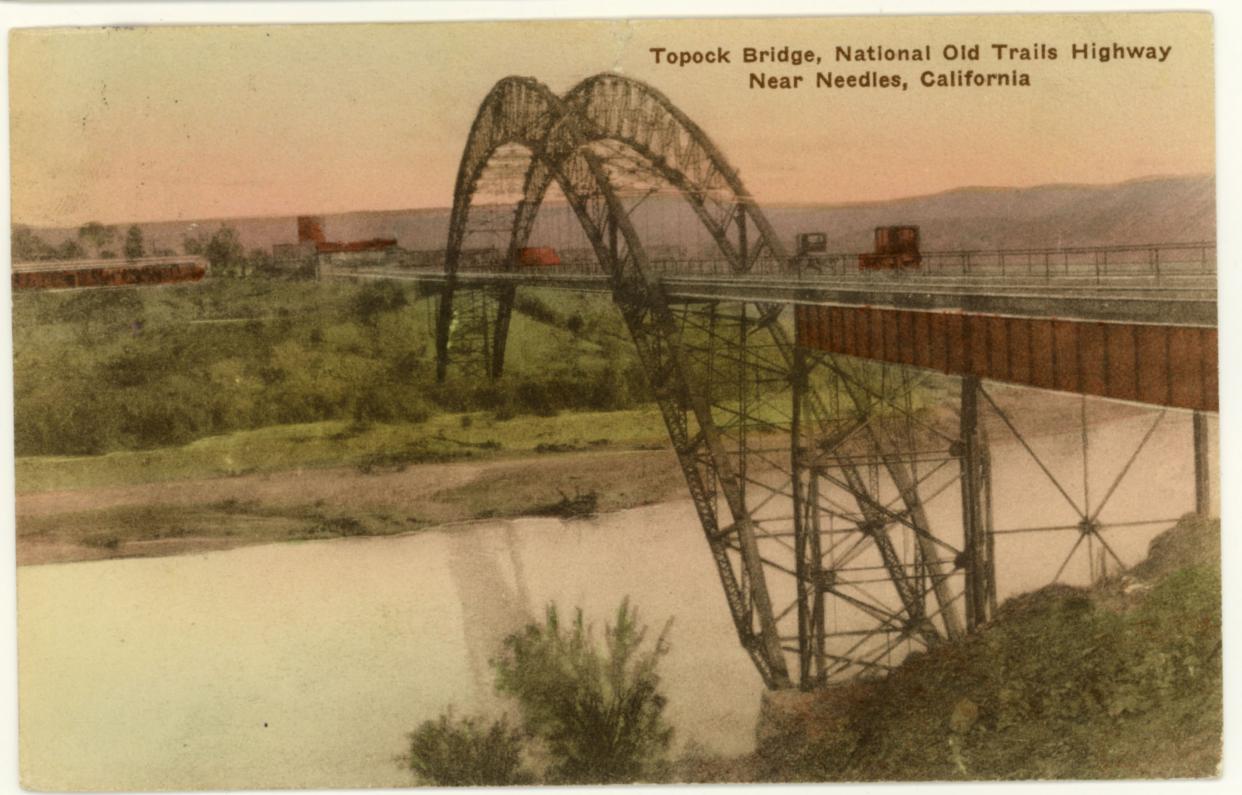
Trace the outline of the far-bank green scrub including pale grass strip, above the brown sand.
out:
[[[666,443],[606,297],[519,292],[505,378],[437,384],[433,298],[255,276],[232,237],[188,241],[220,262],[200,284],[14,296],[19,492]],[[750,405],[780,420],[787,394]]]

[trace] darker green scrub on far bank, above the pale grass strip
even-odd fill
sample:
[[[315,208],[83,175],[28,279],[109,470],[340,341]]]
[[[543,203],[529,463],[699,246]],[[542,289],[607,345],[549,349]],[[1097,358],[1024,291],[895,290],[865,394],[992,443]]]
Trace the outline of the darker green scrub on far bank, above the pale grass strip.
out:
[[[220,242],[227,247],[227,241]],[[210,255],[210,252],[209,252]],[[543,306],[537,294],[524,306]],[[145,291],[14,297],[19,456],[180,446],[324,421],[421,424],[630,409],[648,400],[606,299],[578,333],[518,314],[498,384],[433,379],[433,302],[391,283],[214,278]],[[546,319],[546,318],[545,318]]]

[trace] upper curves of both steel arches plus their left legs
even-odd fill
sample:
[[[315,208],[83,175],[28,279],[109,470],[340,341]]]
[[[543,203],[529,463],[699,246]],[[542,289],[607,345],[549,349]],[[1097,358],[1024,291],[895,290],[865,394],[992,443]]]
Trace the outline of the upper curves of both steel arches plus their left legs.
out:
[[[677,189],[734,272],[750,272],[761,258],[769,261],[770,268],[787,268],[784,245],[737,170],[703,129],[663,93],[628,77],[602,73],[581,81],[559,98],[533,78],[507,77],[481,103],[458,169],[445,257],[448,283],[437,325],[440,379],[445,378],[448,366],[455,277],[471,201],[489,159],[499,148],[514,143],[532,153],[503,262],[505,268],[512,268],[518,250],[529,240],[549,186],[559,183],[569,200],[574,188],[566,183],[573,181],[574,174],[591,170],[581,161],[581,150],[609,142],[627,148],[650,174]],[[607,160],[604,157],[597,160],[605,176]],[[587,176],[586,181],[592,179]],[[582,217],[579,220],[585,222]],[[606,216],[594,220],[597,227],[607,224]],[[638,258],[645,261],[645,257]],[[637,266],[632,262],[627,267]],[[628,277],[642,279],[642,271],[638,267]],[[498,378],[504,369],[513,299],[512,286],[498,291],[496,314],[487,332],[489,344],[484,345],[484,368],[492,378]],[[773,307],[770,316],[775,313]]]

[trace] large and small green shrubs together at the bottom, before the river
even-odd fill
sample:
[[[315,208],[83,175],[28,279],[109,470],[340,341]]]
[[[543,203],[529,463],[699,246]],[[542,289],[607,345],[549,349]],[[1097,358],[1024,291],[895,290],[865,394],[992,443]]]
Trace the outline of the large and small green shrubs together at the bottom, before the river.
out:
[[[581,610],[566,627],[555,606],[548,607],[543,625],[505,638],[493,662],[496,688],[517,702],[525,738],[537,747],[527,755],[546,759],[543,783],[617,784],[667,775],[672,729],[663,719],[666,699],[656,672],[668,653],[667,635],[666,625],[645,650],[646,627],[626,600],[604,631],[602,648]],[[409,763],[428,784],[465,783],[465,771],[491,748],[504,764],[502,775],[489,770],[489,778],[525,775],[515,739],[503,720],[483,733],[477,720],[441,716],[411,735]]]

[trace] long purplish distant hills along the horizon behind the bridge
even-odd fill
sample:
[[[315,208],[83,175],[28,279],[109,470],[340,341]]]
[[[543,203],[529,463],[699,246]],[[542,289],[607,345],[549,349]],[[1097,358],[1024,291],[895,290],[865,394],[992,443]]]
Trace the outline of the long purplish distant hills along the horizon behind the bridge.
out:
[[[764,212],[787,243],[792,245],[797,232],[822,231],[833,251],[868,250],[872,229],[891,224],[920,226],[927,250],[1197,241],[1216,237],[1216,179],[1161,176],[1114,185],[960,188],[867,204],[765,206]],[[324,216],[324,226],[330,240],[396,237],[405,248],[440,248],[447,236],[448,215],[447,207],[344,212]],[[139,226],[148,247],[180,251],[185,236],[210,235],[229,224],[247,248],[271,248],[273,243],[294,241],[294,217],[163,221]],[[652,196],[633,219],[643,240],[652,246],[681,246],[692,255],[710,248],[707,232],[679,198]],[[53,245],[76,235],[76,229],[35,231]],[[585,246],[564,204],[543,209],[532,243]],[[501,245],[501,235],[477,235],[467,245]]]

